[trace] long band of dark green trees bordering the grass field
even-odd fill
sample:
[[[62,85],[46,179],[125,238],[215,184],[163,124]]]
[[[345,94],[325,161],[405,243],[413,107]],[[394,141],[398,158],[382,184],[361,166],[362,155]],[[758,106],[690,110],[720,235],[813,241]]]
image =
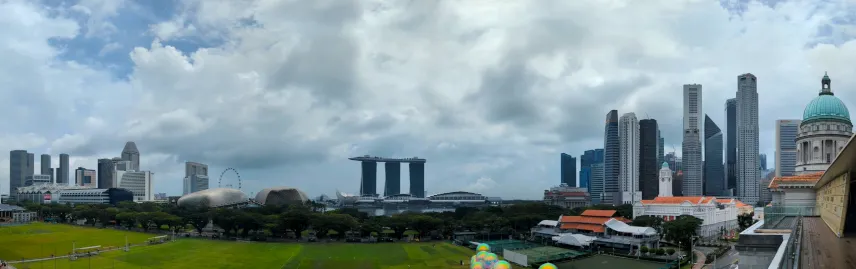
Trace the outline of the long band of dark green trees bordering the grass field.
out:
[[[629,205],[596,205],[565,209],[540,202],[521,202],[506,206],[459,207],[453,212],[413,213],[393,216],[370,216],[355,208],[325,211],[322,204],[309,201],[289,206],[247,208],[192,208],[169,203],[122,202],[107,204],[24,204],[46,221],[83,222],[102,227],[125,227],[144,232],[169,231],[202,233],[209,221],[223,230],[226,237],[292,237],[300,239],[303,231],[314,231],[317,238],[343,238],[346,234],[367,237],[386,236],[400,239],[405,232],[418,237],[448,238],[454,232],[473,231],[486,234],[521,235],[542,220],[557,220],[561,215],[579,215],[585,209],[617,210],[617,215],[632,217]]]

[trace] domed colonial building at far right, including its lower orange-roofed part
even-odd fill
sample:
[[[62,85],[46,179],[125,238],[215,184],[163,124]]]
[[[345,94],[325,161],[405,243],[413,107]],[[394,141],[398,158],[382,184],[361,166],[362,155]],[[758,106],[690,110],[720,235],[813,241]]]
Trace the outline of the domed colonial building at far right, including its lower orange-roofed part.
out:
[[[796,138],[795,176],[776,177],[767,186],[775,206],[813,210],[816,204],[814,184],[853,136],[850,111],[832,93],[831,83],[829,76],[824,74],[820,93],[803,111]]]

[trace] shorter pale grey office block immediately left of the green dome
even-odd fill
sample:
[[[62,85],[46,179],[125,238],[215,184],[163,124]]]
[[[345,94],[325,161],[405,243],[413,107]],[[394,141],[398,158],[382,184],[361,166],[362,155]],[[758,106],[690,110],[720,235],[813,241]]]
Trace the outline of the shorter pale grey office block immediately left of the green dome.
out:
[[[776,176],[793,176],[797,164],[797,134],[801,120],[776,120]]]

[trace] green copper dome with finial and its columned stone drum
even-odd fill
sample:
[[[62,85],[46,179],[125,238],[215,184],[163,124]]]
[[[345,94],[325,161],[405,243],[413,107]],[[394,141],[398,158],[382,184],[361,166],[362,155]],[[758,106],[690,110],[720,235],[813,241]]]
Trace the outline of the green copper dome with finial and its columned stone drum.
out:
[[[835,97],[832,80],[824,74],[820,93],[803,110],[796,138],[796,174],[826,171],[851,136],[850,110]]]

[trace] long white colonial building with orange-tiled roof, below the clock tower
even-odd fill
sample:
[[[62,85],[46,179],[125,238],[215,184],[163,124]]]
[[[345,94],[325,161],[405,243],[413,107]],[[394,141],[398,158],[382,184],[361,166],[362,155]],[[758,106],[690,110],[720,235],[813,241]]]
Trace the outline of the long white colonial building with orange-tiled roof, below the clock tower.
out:
[[[702,220],[698,234],[703,237],[719,236],[738,228],[737,215],[750,207],[737,199],[716,199],[705,196],[657,197],[633,204],[633,218],[655,216],[672,221],[681,215],[690,215]]]

